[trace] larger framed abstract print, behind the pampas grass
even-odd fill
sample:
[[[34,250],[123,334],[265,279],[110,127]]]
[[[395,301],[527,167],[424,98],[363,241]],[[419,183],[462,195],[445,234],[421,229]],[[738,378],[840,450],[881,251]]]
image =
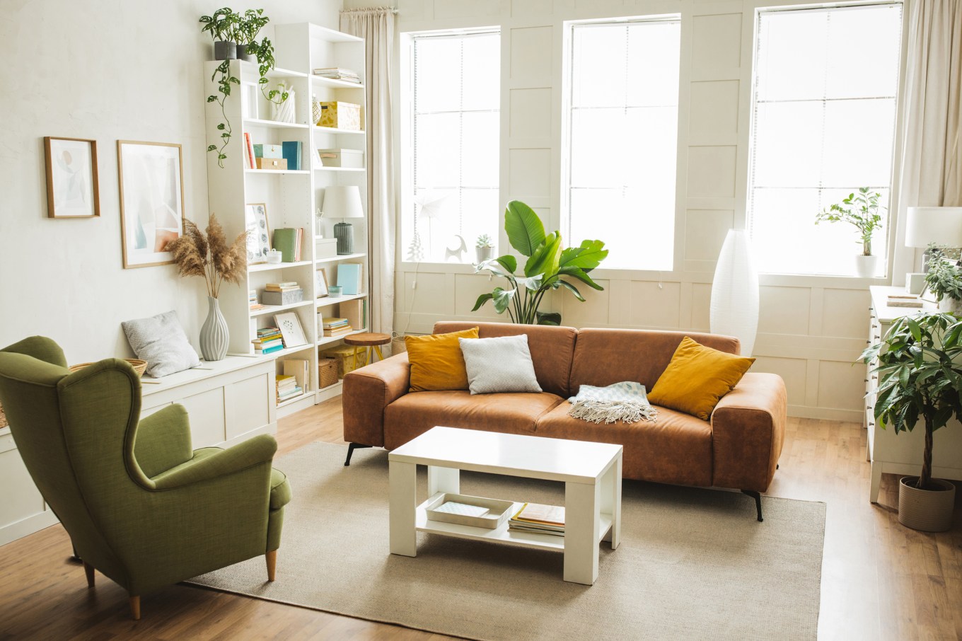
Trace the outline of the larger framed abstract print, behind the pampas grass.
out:
[[[117,141],[123,268],[170,265],[184,232],[184,163],[174,142]]]

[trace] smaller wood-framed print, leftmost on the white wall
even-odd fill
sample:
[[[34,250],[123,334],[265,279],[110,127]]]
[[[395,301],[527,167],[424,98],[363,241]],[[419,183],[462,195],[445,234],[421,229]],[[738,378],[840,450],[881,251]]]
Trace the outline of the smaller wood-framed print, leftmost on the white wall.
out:
[[[100,188],[97,141],[43,137],[47,173],[47,218],[97,218]]]

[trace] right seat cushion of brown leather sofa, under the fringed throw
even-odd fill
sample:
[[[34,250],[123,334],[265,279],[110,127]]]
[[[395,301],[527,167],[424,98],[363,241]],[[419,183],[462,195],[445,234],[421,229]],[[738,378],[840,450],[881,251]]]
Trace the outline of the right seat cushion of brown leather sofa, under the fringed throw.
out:
[[[658,407],[658,418],[638,423],[588,423],[560,403],[538,420],[535,436],[614,443],[624,448],[621,476],[658,483],[712,484],[712,428],[694,416]]]

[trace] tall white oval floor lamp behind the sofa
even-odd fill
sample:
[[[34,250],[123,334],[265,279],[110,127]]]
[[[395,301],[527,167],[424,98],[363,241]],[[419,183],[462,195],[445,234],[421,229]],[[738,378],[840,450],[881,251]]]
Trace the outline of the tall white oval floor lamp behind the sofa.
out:
[[[729,229],[724,239],[709,314],[712,333],[737,337],[742,355],[750,356],[758,333],[758,272],[744,229]]]

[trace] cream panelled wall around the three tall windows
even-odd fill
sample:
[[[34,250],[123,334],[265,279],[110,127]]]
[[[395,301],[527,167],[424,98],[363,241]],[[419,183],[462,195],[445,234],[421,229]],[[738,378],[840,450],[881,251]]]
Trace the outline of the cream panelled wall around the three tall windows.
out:
[[[372,4],[345,0],[345,9]],[[397,0],[399,30],[501,27],[500,200],[535,207],[560,226],[563,22],[680,13],[678,198],[675,269],[597,269],[604,292],[550,301],[573,326],[708,330],[715,263],[725,233],[744,226],[754,10],[750,0]],[[774,4],[774,0],[770,4]],[[778,2],[789,5],[792,2]],[[399,86],[399,85],[398,85]],[[613,231],[598,231],[605,240]],[[786,242],[791,242],[787,239]],[[400,245],[399,245],[400,246]],[[507,247],[506,239],[499,242]],[[817,248],[813,248],[813,251]],[[403,252],[398,252],[403,258]],[[891,257],[890,257],[891,258]],[[441,319],[494,320],[471,313],[494,282],[468,266],[399,263],[394,327],[430,332]],[[413,286],[417,283],[417,288]],[[870,284],[857,278],[762,277],[754,371],[788,385],[790,413],[860,421]],[[543,307],[544,309],[544,307]]]

